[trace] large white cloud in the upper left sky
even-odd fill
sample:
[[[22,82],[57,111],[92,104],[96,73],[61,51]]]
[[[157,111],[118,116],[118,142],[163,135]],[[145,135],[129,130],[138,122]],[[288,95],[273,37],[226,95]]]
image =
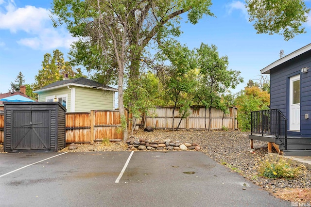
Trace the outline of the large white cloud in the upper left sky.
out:
[[[14,0],[5,2],[5,12],[0,3],[0,30],[9,30],[11,33],[25,32],[22,38],[17,40],[19,45],[33,49],[69,48],[75,40],[63,28],[54,28],[50,18],[50,11],[45,8],[37,8],[27,5],[17,8]]]

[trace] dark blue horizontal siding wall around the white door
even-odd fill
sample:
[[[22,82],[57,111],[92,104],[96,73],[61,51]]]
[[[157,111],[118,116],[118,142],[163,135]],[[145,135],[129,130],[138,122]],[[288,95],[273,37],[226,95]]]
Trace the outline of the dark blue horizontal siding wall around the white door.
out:
[[[308,73],[301,73],[301,68],[310,67]],[[284,64],[270,70],[270,108],[279,109],[289,119],[289,79],[300,74],[300,133],[311,135],[311,51],[306,52]],[[308,113],[310,118],[305,119]],[[288,126],[289,128],[289,126]],[[291,132],[288,132],[289,134]]]

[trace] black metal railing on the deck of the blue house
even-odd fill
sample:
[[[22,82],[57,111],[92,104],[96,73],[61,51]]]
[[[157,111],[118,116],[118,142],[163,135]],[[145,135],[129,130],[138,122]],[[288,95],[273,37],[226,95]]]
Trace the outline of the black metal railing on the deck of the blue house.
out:
[[[287,150],[287,119],[278,109],[252,111],[251,134],[275,135]]]

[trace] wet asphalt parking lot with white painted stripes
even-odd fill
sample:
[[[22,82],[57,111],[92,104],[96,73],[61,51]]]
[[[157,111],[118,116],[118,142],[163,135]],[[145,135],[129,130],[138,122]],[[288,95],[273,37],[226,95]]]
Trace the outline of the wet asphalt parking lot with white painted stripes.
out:
[[[0,154],[1,207],[290,207],[195,151]]]

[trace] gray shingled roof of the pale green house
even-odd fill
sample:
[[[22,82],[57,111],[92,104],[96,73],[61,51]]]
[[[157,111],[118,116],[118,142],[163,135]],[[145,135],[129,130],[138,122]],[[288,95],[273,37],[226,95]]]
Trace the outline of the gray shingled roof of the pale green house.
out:
[[[59,81],[53,82],[47,86],[40,88],[39,90],[34,91],[34,93],[40,93],[44,91],[66,87],[66,86],[71,86],[71,85],[87,87],[87,88],[97,88],[97,89],[108,90],[108,91],[118,91],[118,89],[112,88],[110,86],[105,86],[102,83],[81,77],[77,79],[59,80]]]

